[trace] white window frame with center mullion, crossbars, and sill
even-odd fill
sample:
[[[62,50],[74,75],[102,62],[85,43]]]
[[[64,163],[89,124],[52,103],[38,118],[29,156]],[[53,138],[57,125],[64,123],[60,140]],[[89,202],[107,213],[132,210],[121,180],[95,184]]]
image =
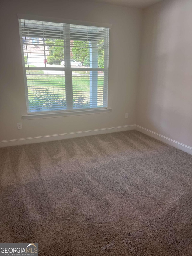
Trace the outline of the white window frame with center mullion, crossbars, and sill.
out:
[[[31,15],[28,15],[26,17],[26,15],[23,15],[23,14],[18,14],[18,18],[19,19],[26,19],[26,20],[39,20],[39,21],[46,21],[46,22],[58,22],[58,23],[63,23],[64,26],[68,25],[68,29],[69,29],[69,26],[70,24],[74,24],[74,25],[84,25],[84,26],[94,26],[93,23],[86,23],[83,21],[73,21],[73,20],[64,20],[62,19],[62,22],[61,22],[61,19],[54,19],[54,18],[43,18],[43,17],[39,17],[37,18],[37,16],[32,16]],[[66,23],[67,21],[67,23]],[[84,23],[84,24],[82,24]],[[107,28],[110,28],[111,27],[111,24],[102,24],[102,23],[95,23],[95,26],[96,27],[107,27]],[[66,26],[67,27],[67,26]],[[20,27],[19,27],[20,29]],[[65,28],[66,29],[66,28]],[[66,33],[65,35],[66,36]],[[64,38],[66,44],[64,44],[64,47],[70,47],[70,40],[66,40],[66,38]],[[105,40],[106,41],[106,40]],[[67,43],[69,45],[67,45]],[[22,47],[22,44],[21,44],[21,47]],[[22,52],[23,52],[23,49],[22,49]],[[54,68],[54,67],[30,67],[30,70],[62,70],[62,71],[65,71],[65,79],[66,79],[66,76],[67,79],[72,79],[72,71],[76,71],[77,68],[76,67],[72,67],[71,66],[71,56],[70,56],[70,51],[66,51],[65,50],[65,53],[68,53],[68,57],[67,57],[67,54],[65,54],[65,66],[64,67],[58,67],[58,68]],[[83,71],[104,71],[106,72],[107,74],[105,74],[105,76],[107,77],[107,82],[106,80],[104,79],[104,89],[106,88],[107,86],[107,89],[108,89],[108,59],[107,59],[107,55],[105,54],[104,55],[104,63],[106,64],[107,62],[107,68],[78,68],[78,71],[80,70],[83,70]],[[36,119],[36,118],[49,118],[49,117],[59,117],[59,116],[75,116],[75,115],[84,115],[84,114],[92,114],[92,113],[106,113],[106,112],[110,112],[111,111],[111,108],[108,108],[108,104],[106,107],[89,107],[89,108],[78,108],[78,109],[75,109],[73,108],[73,102],[72,103],[69,103],[69,105],[72,106],[71,107],[68,107],[67,109],[63,109],[63,110],[44,110],[44,111],[29,111],[29,98],[28,98],[28,85],[27,85],[27,75],[26,75],[26,70],[29,70],[29,67],[26,67],[25,66],[25,63],[24,63],[24,54],[22,54],[22,61],[23,61],[23,71],[24,71],[24,80],[25,80],[25,88],[26,88],[26,103],[27,103],[27,115],[23,115],[23,119]],[[104,65],[105,67],[106,65]],[[65,89],[66,89],[66,85],[65,85]],[[70,83],[70,88],[68,88],[71,93],[73,94],[73,83],[71,81]],[[69,92],[70,93],[70,92]],[[66,97],[67,98],[67,97]],[[72,99],[73,99],[73,96],[72,96]],[[107,102],[108,100],[108,90],[106,93],[104,93],[104,101]]]

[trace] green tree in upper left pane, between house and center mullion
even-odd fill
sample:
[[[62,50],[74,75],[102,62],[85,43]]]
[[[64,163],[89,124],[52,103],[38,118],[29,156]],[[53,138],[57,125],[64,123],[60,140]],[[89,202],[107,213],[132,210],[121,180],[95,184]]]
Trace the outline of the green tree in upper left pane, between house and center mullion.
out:
[[[54,44],[49,46],[47,62],[49,64],[61,64],[61,61],[64,60],[64,41],[62,39],[47,39],[46,44]]]

